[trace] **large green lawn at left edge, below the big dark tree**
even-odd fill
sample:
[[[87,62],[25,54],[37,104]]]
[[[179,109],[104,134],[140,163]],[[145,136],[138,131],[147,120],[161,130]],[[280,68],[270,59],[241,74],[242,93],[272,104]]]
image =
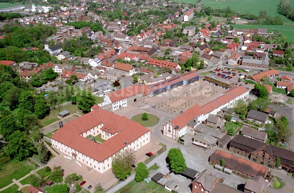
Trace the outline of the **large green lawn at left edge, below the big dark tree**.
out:
[[[34,169],[36,169],[36,167],[27,161],[13,161],[0,171],[0,188],[11,184],[12,179],[18,180],[24,177]]]

